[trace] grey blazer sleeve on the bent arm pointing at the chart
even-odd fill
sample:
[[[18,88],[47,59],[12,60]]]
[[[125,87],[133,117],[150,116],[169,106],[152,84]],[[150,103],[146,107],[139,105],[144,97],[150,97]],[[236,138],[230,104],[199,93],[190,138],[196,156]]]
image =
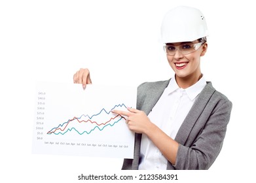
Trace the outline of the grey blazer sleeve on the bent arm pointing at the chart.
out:
[[[179,144],[175,169],[210,168],[223,146],[231,109],[232,103],[225,95],[217,91],[211,95],[189,132],[189,137]],[[180,134],[183,129],[179,131]]]

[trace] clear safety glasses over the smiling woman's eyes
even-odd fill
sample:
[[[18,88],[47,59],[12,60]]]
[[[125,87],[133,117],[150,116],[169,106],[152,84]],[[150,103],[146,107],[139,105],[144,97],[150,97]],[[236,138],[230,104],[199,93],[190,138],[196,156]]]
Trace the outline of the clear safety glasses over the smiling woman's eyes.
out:
[[[200,46],[204,42],[198,42],[198,43],[185,43],[181,44],[179,46],[174,46],[174,45],[164,45],[164,51],[168,56],[174,56],[176,51],[179,50],[179,52],[183,55],[191,54],[192,52],[195,52],[200,48]]]

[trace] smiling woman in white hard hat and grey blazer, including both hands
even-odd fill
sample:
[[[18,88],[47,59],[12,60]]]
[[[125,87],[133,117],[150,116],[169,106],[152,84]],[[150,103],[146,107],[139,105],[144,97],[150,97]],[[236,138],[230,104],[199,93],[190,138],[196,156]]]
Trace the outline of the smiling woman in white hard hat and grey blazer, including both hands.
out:
[[[176,7],[164,17],[161,37],[175,75],[141,84],[136,109],[112,111],[127,116],[136,133],[134,159],[124,159],[122,169],[209,169],[219,155],[232,103],[202,75],[207,36],[206,20],[196,8]],[[88,69],[73,78],[84,88],[92,83]]]

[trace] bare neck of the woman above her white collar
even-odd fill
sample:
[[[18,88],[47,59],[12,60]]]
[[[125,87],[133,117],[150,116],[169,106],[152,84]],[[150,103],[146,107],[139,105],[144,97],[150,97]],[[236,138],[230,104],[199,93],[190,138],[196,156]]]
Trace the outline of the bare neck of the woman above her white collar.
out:
[[[179,88],[186,89],[192,86],[193,84],[196,84],[196,82],[198,82],[198,80],[200,80],[202,76],[203,76],[202,73],[200,73],[200,75],[186,76],[186,77],[179,77],[175,75],[175,80]]]

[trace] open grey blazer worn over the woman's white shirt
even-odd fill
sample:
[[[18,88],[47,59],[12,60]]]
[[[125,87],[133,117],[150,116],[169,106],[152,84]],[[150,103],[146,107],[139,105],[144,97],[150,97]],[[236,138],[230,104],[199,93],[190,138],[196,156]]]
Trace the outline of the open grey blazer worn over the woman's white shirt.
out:
[[[137,88],[137,109],[146,114],[168,86],[170,80],[145,82]],[[168,161],[166,169],[209,169],[221,151],[232,103],[207,82],[179,128],[176,164]],[[124,159],[122,169],[138,169],[141,134],[135,135],[134,159]]]

